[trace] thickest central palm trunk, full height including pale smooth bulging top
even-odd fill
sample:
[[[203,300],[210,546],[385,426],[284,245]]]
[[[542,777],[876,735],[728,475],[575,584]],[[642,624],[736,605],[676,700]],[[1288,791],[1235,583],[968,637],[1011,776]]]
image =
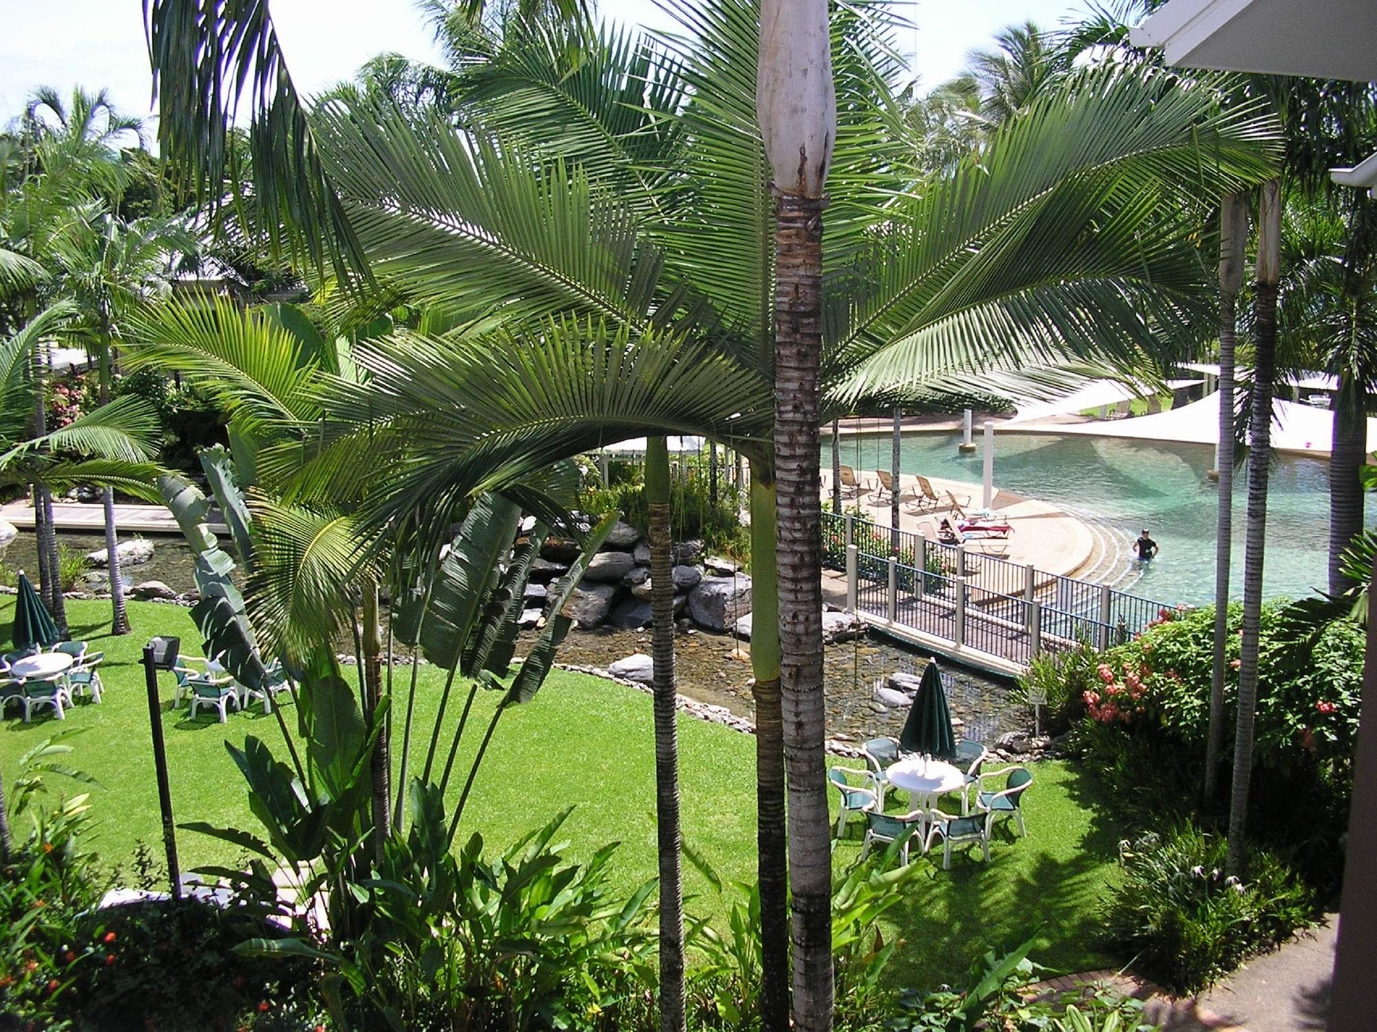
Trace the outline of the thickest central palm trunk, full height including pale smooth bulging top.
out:
[[[775,497],[793,1025],[832,1028],[832,826],[822,700],[822,211],[837,135],[828,0],[761,0],[756,118],[775,191]],[[755,623],[755,621],[752,621]]]

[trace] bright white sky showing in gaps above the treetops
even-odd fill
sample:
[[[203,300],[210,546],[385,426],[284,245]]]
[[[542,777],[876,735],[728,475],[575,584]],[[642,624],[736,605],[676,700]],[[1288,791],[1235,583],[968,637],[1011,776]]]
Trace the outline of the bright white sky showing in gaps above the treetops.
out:
[[[621,22],[673,26],[653,0],[600,0],[598,7]],[[1031,18],[1056,28],[1084,0],[912,0],[905,7],[916,29],[903,33],[901,50],[931,88],[1005,25]],[[307,95],[350,78],[376,54],[438,61],[412,0],[273,0],[271,11],[288,67]],[[0,124],[23,110],[36,85],[63,95],[78,84],[105,87],[121,111],[147,114],[151,76],[140,0],[0,0]]]

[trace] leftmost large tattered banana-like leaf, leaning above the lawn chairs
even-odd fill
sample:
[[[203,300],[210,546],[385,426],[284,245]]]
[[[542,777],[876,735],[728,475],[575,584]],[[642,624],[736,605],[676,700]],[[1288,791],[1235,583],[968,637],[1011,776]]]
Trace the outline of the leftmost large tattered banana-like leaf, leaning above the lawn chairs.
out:
[[[158,490],[196,553],[194,575],[201,597],[191,607],[191,619],[201,630],[205,654],[220,656],[220,663],[240,684],[262,688],[270,680],[269,673],[259,655],[244,596],[230,579],[234,560],[207,526],[209,499],[180,476],[160,476]]]

